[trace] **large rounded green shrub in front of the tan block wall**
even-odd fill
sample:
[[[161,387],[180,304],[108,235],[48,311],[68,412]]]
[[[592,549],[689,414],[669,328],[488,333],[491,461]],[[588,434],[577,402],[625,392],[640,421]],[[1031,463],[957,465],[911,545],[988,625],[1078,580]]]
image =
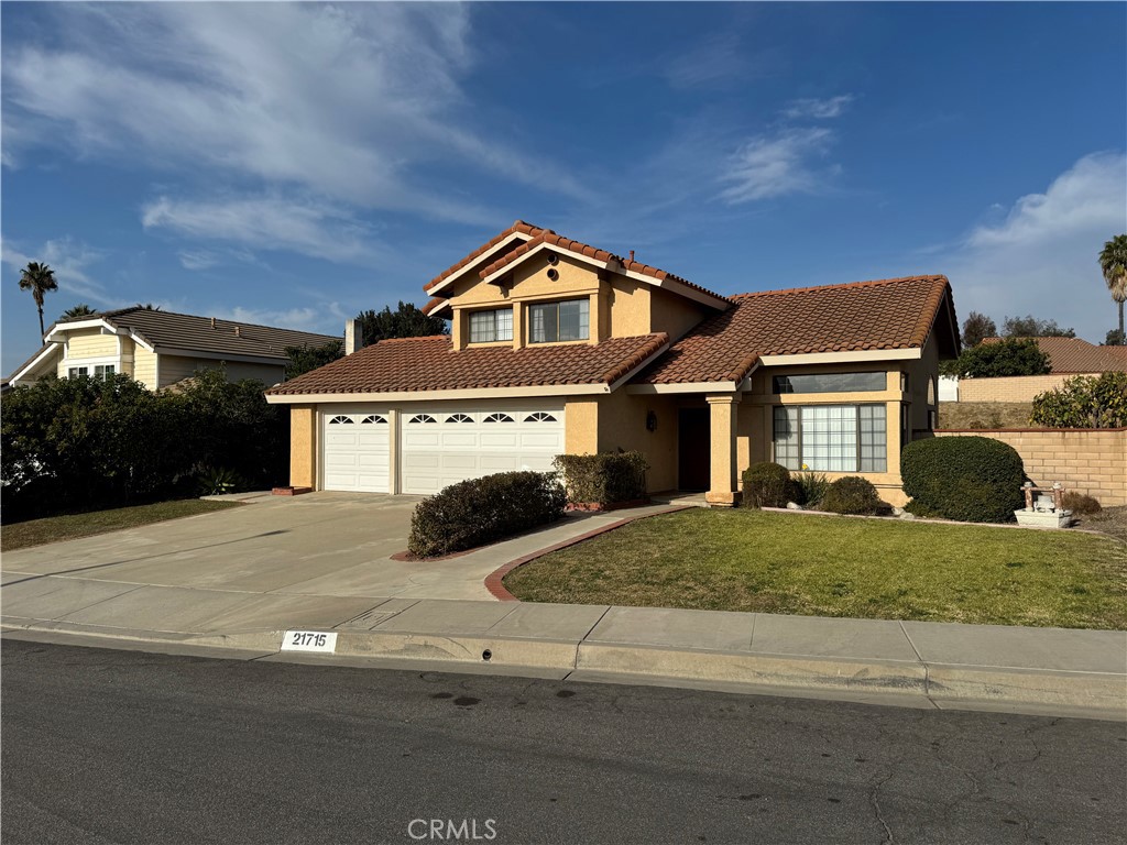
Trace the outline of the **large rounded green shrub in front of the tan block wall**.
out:
[[[970,523],[1013,522],[1026,506],[1021,455],[988,437],[931,437],[900,453],[904,492],[948,518]]]

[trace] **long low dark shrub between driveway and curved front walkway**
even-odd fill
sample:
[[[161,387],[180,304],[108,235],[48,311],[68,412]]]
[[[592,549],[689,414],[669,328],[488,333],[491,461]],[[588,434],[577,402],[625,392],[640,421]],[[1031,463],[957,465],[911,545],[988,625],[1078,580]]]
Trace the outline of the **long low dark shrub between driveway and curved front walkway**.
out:
[[[407,550],[436,558],[504,540],[564,516],[567,499],[551,472],[502,472],[451,484],[411,513]]]

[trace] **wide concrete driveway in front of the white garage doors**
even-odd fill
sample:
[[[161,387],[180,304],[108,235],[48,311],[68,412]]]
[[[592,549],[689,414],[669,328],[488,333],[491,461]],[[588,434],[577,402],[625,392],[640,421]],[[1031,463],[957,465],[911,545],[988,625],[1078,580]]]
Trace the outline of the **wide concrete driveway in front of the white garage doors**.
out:
[[[230,510],[7,552],[5,582],[26,573],[247,593],[491,601],[485,577],[523,553],[506,558],[507,543],[441,562],[391,560],[407,549],[418,500],[265,496]]]

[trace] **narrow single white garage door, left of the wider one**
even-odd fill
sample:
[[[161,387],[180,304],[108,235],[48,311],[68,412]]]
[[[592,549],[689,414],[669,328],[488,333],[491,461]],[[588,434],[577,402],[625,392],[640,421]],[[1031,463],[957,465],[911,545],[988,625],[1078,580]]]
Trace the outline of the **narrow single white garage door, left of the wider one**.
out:
[[[391,438],[388,415],[325,416],[325,489],[388,492]]]

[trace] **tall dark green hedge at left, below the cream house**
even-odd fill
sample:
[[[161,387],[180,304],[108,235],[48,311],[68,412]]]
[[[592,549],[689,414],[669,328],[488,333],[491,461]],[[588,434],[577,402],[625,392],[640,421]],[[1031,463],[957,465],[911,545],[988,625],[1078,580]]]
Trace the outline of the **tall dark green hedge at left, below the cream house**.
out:
[[[0,399],[3,519],[196,495],[222,473],[283,483],[290,416],[257,381],[196,373],[178,392],[115,375],[42,379]]]

